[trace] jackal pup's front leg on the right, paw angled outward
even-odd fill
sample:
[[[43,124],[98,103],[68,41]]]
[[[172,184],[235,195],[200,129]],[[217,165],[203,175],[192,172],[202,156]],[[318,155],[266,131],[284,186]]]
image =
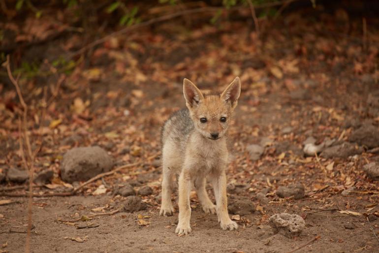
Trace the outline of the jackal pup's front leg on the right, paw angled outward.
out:
[[[230,220],[227,207],[227,197],[226,197],[226,175],[225,171],[222,170],[220,174],[215,175],[213,179],[213,189],[215,191],[216,205],[217,205],[217,216],[221,228],[223,230],[235,230],[238,225],[235,221]]]

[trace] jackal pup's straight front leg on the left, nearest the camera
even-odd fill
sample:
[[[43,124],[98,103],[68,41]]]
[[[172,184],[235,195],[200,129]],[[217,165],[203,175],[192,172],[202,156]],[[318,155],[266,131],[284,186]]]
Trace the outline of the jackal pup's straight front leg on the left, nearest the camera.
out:
[[[189,175],[183,170],[179,176],[179,222],[175,233],[186,235],[191,232],[189,220],[191,218],[191,207],[189,205],[189,191],[191,181]]]

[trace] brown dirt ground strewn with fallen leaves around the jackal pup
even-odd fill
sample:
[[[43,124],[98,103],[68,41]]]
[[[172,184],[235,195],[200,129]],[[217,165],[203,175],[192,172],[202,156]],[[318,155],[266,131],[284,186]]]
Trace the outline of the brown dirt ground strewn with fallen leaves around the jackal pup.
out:
[[[315,158],[303,153],[303,142],[310,136],[317,144],[327,138],[348,141],[364,124],[378,128],[379,19],[368,19],[366,43],[361,22],[341,9],[332,13],[303,10],[262,22],[259,38],[246,20],[191,29],[182,22],[167,22],[97,47],[87,63],[78,64],[66,76],[48,108],[36,170],[52,169],[50,185],[59,187],[35,192],[68,190],[70,186],[60,178],[60,166],[63,154],[73,147],[98,145],[115,159],[115,167],[135,161],[142,164],[98,180],[75,196],[33,198],[32,251],[281,253],[319,236],[297,252],[379,252],[375,237],[379,184],[362,170],[371,161],[379,162],[378,153],[368,152],[368,147],[356,156]],[[79,42],[72,36],[49,43],[74,50]],[[44,58],[63,50],[49,51],[52,47],[32,49]],[[217,217],[204,214],[191,194],[192,232],[178,237],[174,232],[177,206],[172,217],[158,216],[159,161],[147,158],[160,150],[159,127],[185,105],[184,77],[201,89],[221,90],[237,75],[242,93],[229,131],[233,159],[227,172],[228,198],[245,197],[257,210],[237,221],[237,231],[222,231]],[[57,79],[41,78],[47,86]],[[41,80],[20,81],[31,105],[41,97],[36,92]],[[1,169],[6,171],[21,167],[22,161],[17,144],[18,106],[9,102],[17,101],[11,86],[4,86],[2,97],[1,146],[5,148],[0,154],[4,157]],[[11,111],[9,106],[16,109]],[[70,141],[72,136],[77,138]],[[263,137],[269,141],[262,156],[254,160],[247,147],[261,143]],[[114,189],[126,183],[135,190],[145,185],[153,189],[153,194],[142,197],[146,210],[123,211],[125,198],[114,194]],[[292,183],[305,186],[303,198],[277,196],[280,186]],[[14,185],[3,182],[1,186]],[[94,196],[100,185],[107,192]],[[342,194],[353,186],[350,194]],[[210,186],[208,190],[213,196]],[[261,191],[267,201],[256,198]],[[0,197],[5,199],[15,202],[0,205],[0,252],[23,252],[28,200]],[[98,207],[104,208],[93,211]],[[83,215],[118,209],[114,215],[72,222]],[[268,218],[282,212],[305,219],[300,236],[274,233]],[[90,227],[77,229],[80,225]]]

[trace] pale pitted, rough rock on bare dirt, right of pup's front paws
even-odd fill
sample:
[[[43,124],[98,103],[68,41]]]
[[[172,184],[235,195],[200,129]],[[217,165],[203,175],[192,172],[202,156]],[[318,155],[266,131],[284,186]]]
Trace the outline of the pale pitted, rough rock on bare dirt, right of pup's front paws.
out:
[[[275,232],[283,234],[288,238],[299,236],[305,228],[305,221],[301,216],[296,214],[274,214],[269,219],[270,225]]]

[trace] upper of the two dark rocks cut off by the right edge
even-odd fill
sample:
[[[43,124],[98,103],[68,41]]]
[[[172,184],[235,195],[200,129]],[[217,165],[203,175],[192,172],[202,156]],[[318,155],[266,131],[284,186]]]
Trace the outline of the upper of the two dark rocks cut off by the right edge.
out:
[[[351,133],[349,141],[365,145],[369,149],[379,147],[378,127],[373,125],[363,125]]]

